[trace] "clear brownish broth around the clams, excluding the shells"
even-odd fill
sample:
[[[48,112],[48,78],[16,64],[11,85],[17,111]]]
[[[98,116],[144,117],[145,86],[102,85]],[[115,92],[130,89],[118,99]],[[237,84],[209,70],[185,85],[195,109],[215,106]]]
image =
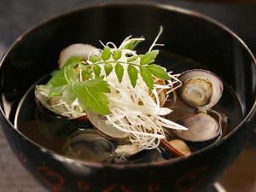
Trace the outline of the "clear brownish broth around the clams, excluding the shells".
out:
[[[165,63],[171,63],[170,67],[167,67],[168,70],[173,71],[174,73],[181,73],[185,70],[192,69],[192,68],[204,68],[202,65],[196,63],[195,61],[190,60],[189,58],[185,58],[179,55],[169,54],[167,51],[162,51],[160,54],[160,61]],[[49,75],[47,76],[49,78]],[[47,78],[46,78],[47,79]],[[42,84],[45,81],[45,77],[40,79],[36,84]],[[78,154],[70,154],[66,153],[67,144],[69,143],[69,136],[61,136],[61,137],[46,137],[44,131],[38,127],[38,106],[35,102],[34,96],[34,88],[33,85],[23,96],[20,101],[19,107],[15,114],[15,126],[16,128],[21,131],[26,137],[29,137],[35,143],[44,146],[44,148],[49,148],[50,150],[55,151],[58,154],[66,155],[73,159],[79,160],[88,160],[90,158],[86,158],[86,155],[78,155]],[[191,113],[194,109],[188,108],[185,104],[181,104],[182,102],[177,100],[177,103],[174,105],[172,104],[170,108],[174,109],[174,112],[168,117],[170,119],[176,119],[177,116],[180,116],[182,113]],[[183,106],[183,107],[181,107]],[[224,123],[222,125],[222,136],[228,134],[232,131],[236,125],[241,122],[242,113],[241,113],[241,105],[238,102],[235,94],[230,89],[228,84],[224,83],[224,93],[221,97],[218,104],[213,108],[214,110],[221,113],[222,116],[228,117],[228,123]],[[60,117],[57,117],[57,119]],[[93,129],[92,126],[88,126],[87,128]],[[198,150],[200,148],[204,148],[205,146],[212,144],[212,143],[187,143],[192,150]],[[116,146],[116,143],[113,143],[113,146]],[[82,151],[82,150],[81,150]],[[143,163],[143,162],[151,162],[151,161],[158,161],[158,160],[165,160],[170,159],[172,157],[163,154],[161,150],[147,150],[139,153],[131,158],[131,160],[107,160],[106,163]],[[100,158],[99,158],[100,159]],[[92,161],[96,161],[95,159]]]

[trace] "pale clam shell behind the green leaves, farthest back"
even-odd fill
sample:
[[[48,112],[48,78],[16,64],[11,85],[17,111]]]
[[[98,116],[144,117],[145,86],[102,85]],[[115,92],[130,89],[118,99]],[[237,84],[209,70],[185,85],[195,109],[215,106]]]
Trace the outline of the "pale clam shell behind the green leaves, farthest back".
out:
[[[89,55],[98,55],[99,51],[90,44],[71,44],[67,48],[61,50],[59,58],[59,67],[63,67],[71,56],[81,56],[86,60]]]

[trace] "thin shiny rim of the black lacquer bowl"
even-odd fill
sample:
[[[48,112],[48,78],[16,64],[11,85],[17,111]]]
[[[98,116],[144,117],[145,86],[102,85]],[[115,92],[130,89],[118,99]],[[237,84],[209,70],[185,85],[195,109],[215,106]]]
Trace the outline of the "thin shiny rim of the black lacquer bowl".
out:
[[[256,59],[255,59],[252,51],[247,47],[247,44],[245,44],[244,41],[241,38],[239,38],[235,32],[231,31],[230,28],[228,28],[227,26],[224,26],[224,24],[220,23],[218,20],[212,19],[210,16],[201,14],[195,10],[184,9],[181,7],[177,7],[176,5],[174,6],[174,5],[166,4],[166,3],[153,3],[153,2],[132,2],[132,3],[131,2],[122,2],[122,3],[111,2],[111,3],[109,3],[108,2],[108,3],[87,4],[87,5],[80,7],[79,9],[72,9],[72,10],[66,11],[64,13],[53,15],[53,16],[49,17],[48,19],[43,20],[43,21],[39,22],[38,24],[30,27],[25,32],[23,32],[18,38],[16,38],[15,41],[9,46],[9,49],[3,54],[2,59],[0,61],[0,70],[1,70],[3,62],[5,61],[5,58],[7,57],[7,55],[9,55],[9,53],[12,51],[12,49],[15,49],[15,46],[20,43],[22,38],[26,37],[33,31],[40,28],[41,26],[45,26],[50,22],[61,19],[62,17],[86,11],[87,9],[96,9],[96,8],[105,8],[105,7],[110,8],[110,7],[118,7],[118,6],[124,6],[124,7],[143,6],[144,8],[147,7],[147,8],[151,8],[151,9],[167,10],[170,12],[176,12],[177,14],[189,15],[189,16],[194,17],[199,20],[205,20],[208,23],[211,23],[213,26],[216,26],[216,27],[220,28],[221,30],[223,30],[224,32],[227,32],[231,37],[235,38],[241,44],[241,46],[247,50],[247,53],[251,56],[254,67],[256,67]],[[27,142],[32,143],[32,145],[35,145],[37,148],[39,148],[41,150],[41,152],[50,155],[55,160],[59,160],[59,161],[62,161],[62,162],[68,163],[68,164],[77,164],[79,166],[90,166],[90,167],[95,167],[95,168],[111,167],[113,169],[118,169],[118,170],[128,169],[128,168],[140,168],[140,167],[144,167],[144,166],[147,166],[147,167],[148,166],[170,166],[179,161],[195,158],[195,156],[200,155],[201,153],[204,153],[205,151],[208,151],[212,148],[217,147],[221,143],[224,143],[225,140],[232,137],[236,133],[236,131],[238,131],[241,128],[241,125],[244,125],[247,122],[249,122],[251,119],[253,119],[253,114],[255,112],[256,112],[256,99],[254,99],[253,107],[250,109],[250,111],[247,113],[247,115],[245,117],[243,117],[241,122],[238,125],[236,125],[234,130],[230,131],[230,133],[228,135],[222,137],[220,140],[218,140],[218,142],[212,143],[211,145],[207,146],[206,148],[202,148],[201,150],[196,151],[196,152],[190,154],[189,156],[183,156],[183,157],[179,157],[179,158],[175,158],[175,159],[171,159],[171,160],[161,160],[161,161],[150,162],[150,163],[104,164],[104,163],[89,162],[89,161],[84,161],[84,160],[74,160],[72,158],[63,156],[59,153],[56,153],[55,151],[50,150],[49,148],[45,148],[44,146],[42,146],[38,143],[35,143],[34,141],[32,141],[32,139],[26,137],[23,133],[21,133],[19,130],[17,130],[15,128],[15,126],[6,117],[5,113],[3,112],[3,108],[0,107],[0,113],[3,116],[3,120],[7,124],[9,124],[9,126],[12,127],[12,129],[14,129],[20,137],[25,138]]]

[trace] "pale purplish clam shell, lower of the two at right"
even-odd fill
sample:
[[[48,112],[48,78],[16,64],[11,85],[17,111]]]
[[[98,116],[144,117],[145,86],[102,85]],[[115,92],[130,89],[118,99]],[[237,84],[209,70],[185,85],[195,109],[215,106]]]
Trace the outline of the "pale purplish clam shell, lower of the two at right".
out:
[[[172,131],[174,135],[184,141],[207,142],[221,134],[220,125],[207,113],[190,113],[177,119],[176,122],[188,128],[187,131]]]

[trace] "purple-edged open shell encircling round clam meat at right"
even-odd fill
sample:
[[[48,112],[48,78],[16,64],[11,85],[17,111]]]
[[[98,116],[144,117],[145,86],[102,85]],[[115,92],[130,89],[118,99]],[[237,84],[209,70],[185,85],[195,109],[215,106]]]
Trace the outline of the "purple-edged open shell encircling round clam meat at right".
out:
[[[202,69],[189,70],[181,73],[181,75],[178,77],[178,79],[180,79],[180,81],[183,84],[189,79],[197,79],[197,78],[212,84],[211,86],[212,94],[209,100],[203,106],[195,106],[194,103],[188,102],[184,99],[183,101],[189,104],[192,108],[198,108],[201,111],[207,111],[208,109],[212,108],[214,105],[217,104],[218,100],[222,96],[224,86],[223,86],[222,80],[216,74],[206,70],[202,70]],[[179,95],[181,96],[181,94],[182,94],[181,89],[179,89]],[[181,97],[183,98],[183,96]]]

